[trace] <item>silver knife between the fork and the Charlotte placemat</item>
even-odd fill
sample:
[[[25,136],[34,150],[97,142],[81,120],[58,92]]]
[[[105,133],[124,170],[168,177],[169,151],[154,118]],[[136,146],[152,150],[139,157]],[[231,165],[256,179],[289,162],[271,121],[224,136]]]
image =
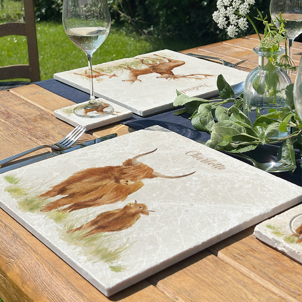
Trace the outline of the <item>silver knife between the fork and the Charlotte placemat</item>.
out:
[[[40,156],[33,157],[31,159],[26,159],[26,160],[23,160],[22,162],[17,162],[15,164],[11,164],[11,165],[5,166],[3,168],[0,168],[0,174],[2,174],[4,172],[11,171],[11,170],[14,170],[14,169],[17,169],[17,168],[20,168],[20,167],[23,167],[23,166],[26,166],[26,165],[30,165],[34,162],[40,162],[43,159],[51,158],[51,157],[54,157],[54,156],[57,156],[57,155],[60,155],[60,154],[64,154],[64,153],[67,153],[67,152],[70,152],[70,151],[74,151],[74,150],[77,150],[77,149],[84,148],[86,146],[97,144],[97,143],[100,143],[104,140],[110,140],[111,138],[114,138],[114,137],[117,137],[117,133],[113,133],[113,134],[109,134],[109,135],[106,135],[106,136],[103,136],[103,137],[99,137],[95,140],[89,140],[86,143],[82,143],[82,144],[70,147],[68,149],[65,149],[65,150],[56,151],[56,152],[52,152],[52,153],[47,153],[47,154],[43,154],[43,155],[40,155]]]

